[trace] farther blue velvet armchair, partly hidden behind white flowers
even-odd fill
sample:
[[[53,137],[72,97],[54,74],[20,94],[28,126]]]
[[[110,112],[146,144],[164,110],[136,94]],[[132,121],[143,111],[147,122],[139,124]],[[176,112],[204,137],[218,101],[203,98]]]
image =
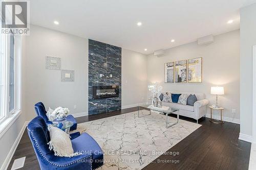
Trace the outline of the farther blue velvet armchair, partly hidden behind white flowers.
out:
[[[36,114],[38,116],[41,116],[45,120],[47,125],[52,124],[52,122],[49,121],[49,119],[48,119],[48,117],[46,115],[47,111],[46,111],[45,105],[42,102],[38,102],[37,104],[35,104],[35,112],[36,112]],[[67,116],[67,120],[69,120],[69,121],[74,123],[74,125],[72,127],[70,127],[70,130],[71,131],[76,130],[77,123],[76,123],[75,117],[72,116],[72,115],[68,115]]]

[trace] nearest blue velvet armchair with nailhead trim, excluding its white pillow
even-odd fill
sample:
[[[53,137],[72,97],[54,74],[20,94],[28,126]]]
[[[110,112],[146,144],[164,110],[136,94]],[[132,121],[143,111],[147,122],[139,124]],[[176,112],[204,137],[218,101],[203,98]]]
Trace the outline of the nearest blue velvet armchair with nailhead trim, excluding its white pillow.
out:
[[[58,157],[49,150],[50,135],[45,120],[37,116],[28,124],[28,134],[40,168],[45,169],[96,169],[103,165],[103,154],[98,143],[87,133],[71,138],[74,152],[81,155]]]

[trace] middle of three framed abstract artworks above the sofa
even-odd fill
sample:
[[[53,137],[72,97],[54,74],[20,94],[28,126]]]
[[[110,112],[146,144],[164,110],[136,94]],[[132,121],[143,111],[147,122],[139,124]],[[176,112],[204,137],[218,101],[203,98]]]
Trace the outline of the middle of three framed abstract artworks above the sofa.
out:
[[[175,61],[175,83],[187,82],[187,60]]]

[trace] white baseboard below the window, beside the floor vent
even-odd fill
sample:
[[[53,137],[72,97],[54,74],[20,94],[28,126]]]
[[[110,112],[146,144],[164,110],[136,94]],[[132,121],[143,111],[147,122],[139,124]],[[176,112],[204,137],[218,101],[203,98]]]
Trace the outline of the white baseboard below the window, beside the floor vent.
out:
[[[13,155],[14,155],[17,147],[18,147],[19,141],[20,141],[20,139],[22,139],[22,135],[23,135],[26,127],[28,126],[28,124],[29,124],[29,122],[25,122],[24,123],[22,129],[20,130],[16,140],[14,141],[14,143],[12,145],[12,148],[10,149],[10,151],[9,151],[8,155],[6,156],[6,159],[5,159],[3,165],[1,166],[0,169],[6,170],[8,168],[8,166],[9,166],[9,164],[11,162],[11,159],[12,159],[12,157],[13,157]]]

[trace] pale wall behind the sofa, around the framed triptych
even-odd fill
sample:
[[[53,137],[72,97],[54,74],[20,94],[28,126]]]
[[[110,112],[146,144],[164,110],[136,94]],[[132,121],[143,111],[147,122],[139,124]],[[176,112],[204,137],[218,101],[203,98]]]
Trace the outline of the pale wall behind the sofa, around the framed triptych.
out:
[[[235,119],[240,119],[240,40],[239,30],[215,36],[215,42],[197,45],[197,42],[180,45],[165,50],[165,56],[148,56],[148,84],[160,82],[165,91],[203,92],[210,104],[215,96],[210,94],[211,86],[224,86],[225,95],[220,96],[219,104],[225,107],[225,117],[233,117],[231,109],[236,109]],[[163,83],[164,63],[183,59],[202,57],[203,83]],[[148,92],[148,97],[151,93]],[[209,110],[208,110],[209,113]],[[215,113],[217,114],[217,113]]]

